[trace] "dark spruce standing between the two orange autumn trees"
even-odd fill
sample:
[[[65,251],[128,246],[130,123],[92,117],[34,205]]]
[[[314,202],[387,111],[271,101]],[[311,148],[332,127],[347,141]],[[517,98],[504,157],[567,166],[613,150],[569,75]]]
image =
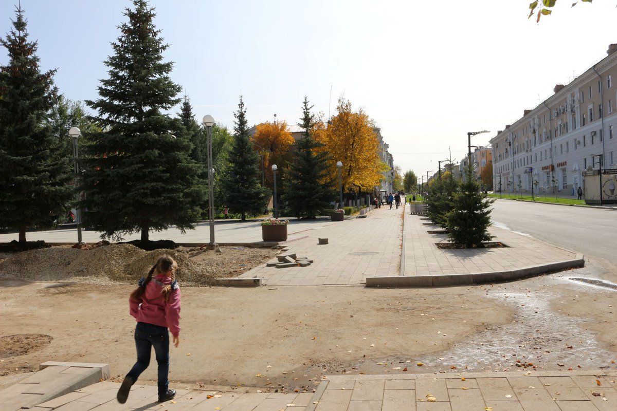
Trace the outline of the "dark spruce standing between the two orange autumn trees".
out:
[[[329,155],[315,150],[324,144],[313,140],[310,135],[314,125],[311,108],[313,106],[309,106],[308,97],[304,96],[303,116],[300,119],[304,136],[296,143],[296,158],[288,172],[284,200],[297,218],[305,216],[314,219],[319,211],[329,207],[336,193],[331,189],[334,187],[334,178],[328,173]]]

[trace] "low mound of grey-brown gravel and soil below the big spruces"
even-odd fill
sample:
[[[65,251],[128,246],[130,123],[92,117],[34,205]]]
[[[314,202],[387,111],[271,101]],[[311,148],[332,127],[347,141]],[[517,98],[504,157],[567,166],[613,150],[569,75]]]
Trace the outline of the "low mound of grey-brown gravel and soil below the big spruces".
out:
[[[278,250],[222,248],[223,253],[198,248],[144,251],[130,244],[99,246],[93,250],[52,247],[16,253],[0,260],[0,278],[30,281],[137,283],[157,259],[169,254],[178,262],[182,286],[213,285],[214,279],[236,277],[273,258]]]

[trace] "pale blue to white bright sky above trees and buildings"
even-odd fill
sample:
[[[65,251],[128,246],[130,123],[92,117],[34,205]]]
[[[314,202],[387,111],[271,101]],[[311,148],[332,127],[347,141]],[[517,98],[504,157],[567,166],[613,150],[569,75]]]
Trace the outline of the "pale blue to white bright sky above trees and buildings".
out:
[[[0,0],[0,35],[19,0]],[[540,23],[530,0],[151,0],[165,60],[198,122],[233,128],[242,94],[249,124],[295,124],[308,96],[324,118],[349,99],[381,128],[403,172],[460,161],[467,132],[505,124],[550,97],[617,43],[616,0],[561,0]],[[94,100],[128,0],[22,0],[41,68],[71,100]],[[0,50],[0,64],[8,60]],[[175,108],[172,113],[177,113]],[[433,173],[430,173],[433,174]]]

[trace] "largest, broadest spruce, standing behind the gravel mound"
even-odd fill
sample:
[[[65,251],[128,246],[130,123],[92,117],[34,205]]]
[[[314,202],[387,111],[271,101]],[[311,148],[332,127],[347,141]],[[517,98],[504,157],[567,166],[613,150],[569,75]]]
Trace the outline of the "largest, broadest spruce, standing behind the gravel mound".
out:
[[[87,102],[104,131],[87,136],[86,222],[102,237],[141,232],[147,241],[150,230],[193,229],[204,187],[186,129],[164,113],[180,102],[181,90],[169,77],[173,63],[163,61],[168,44],[154,9],[145,0],[133,6],[105,62],[100,98]]]

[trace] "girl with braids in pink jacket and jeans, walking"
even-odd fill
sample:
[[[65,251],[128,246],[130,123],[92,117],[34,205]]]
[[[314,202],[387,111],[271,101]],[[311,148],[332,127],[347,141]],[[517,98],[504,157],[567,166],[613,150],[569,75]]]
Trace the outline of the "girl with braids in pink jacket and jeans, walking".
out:
[[[169,389],[169,332],[173,336],[173,345],[180,344],[180,287],[176,280],[178,264],[170,256],[162,256],[152,266],[146,278],[138,285],[128,298],[130,312],[137,320],[135,327],[135,346],[137,362],[126,374],[117,399],[124,404],[131,386],[150,364],[152,348],[159,365],[159,402],[176,396],[174,389]]]

